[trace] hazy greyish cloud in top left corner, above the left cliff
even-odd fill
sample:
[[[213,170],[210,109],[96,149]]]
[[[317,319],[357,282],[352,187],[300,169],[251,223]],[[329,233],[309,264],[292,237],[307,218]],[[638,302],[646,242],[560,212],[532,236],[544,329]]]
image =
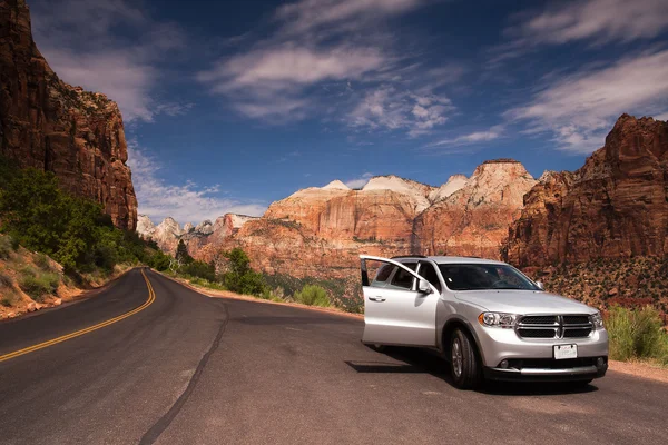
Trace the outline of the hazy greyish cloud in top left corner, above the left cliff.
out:
[[[37,44],[66,82],[107,95],[126,121],[187,110],[155,97],[161,59],[184,44],[174,23],[151,20],[128,0],[36,0],[31,7]],[[134,38],[118,37],[119,27]]]

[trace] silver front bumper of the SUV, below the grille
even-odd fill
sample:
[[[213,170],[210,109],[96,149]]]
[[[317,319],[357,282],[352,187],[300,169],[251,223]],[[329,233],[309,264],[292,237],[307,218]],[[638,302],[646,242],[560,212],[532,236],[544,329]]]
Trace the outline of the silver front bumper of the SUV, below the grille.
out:
[[[608,333],[586,338],[520,338],[514,329],[475,327],[484,374],[501,380],[587,380],[608,370]],[[578,358],[557,360],[556,345],[578,345]],[[507,362],[502,367],[502,363]]]

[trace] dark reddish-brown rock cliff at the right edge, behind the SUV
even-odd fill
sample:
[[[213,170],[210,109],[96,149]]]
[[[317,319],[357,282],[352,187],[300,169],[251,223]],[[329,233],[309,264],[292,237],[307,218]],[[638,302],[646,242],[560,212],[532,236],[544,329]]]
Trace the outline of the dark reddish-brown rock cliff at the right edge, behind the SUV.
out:
[[[505,249],[519,266],[668,255],[668,123],[623,115],[582,168],[546,172]]]

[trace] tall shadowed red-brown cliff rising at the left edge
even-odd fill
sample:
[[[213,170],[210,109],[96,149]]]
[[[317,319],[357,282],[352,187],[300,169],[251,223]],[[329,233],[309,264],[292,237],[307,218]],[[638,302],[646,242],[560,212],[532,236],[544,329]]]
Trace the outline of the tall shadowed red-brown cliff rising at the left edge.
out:
[[[137,199],[118,106],[61,81],[41,56],[24,0],[0,0],[0,154],[52,171],[134,230]]]

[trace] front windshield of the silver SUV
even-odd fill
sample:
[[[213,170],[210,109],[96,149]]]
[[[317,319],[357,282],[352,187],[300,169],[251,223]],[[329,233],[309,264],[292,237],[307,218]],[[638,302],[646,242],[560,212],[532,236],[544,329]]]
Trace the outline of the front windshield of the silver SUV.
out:
[[[514,267],[497,264],[442,264],[443,279],[451,290],[540,290]]]

